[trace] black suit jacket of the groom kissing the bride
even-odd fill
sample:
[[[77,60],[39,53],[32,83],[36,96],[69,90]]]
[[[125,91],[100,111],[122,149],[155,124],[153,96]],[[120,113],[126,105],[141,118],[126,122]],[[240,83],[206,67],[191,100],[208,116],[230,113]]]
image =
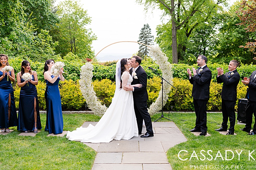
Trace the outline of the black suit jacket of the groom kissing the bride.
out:
[[[131,85],[134,84],[142,84],[141,88],[134,87],[133,91],[133,101],[134,102],[143,102],[147,101],[149,99],[148,92],[147,92],[147,74],[144,71],[144,69],[139,65],[137,70],[135,71],[137,74],[137,79],[133,77],[133,81],[131,82]],[[130,70],[130,74],[132,76],[132,69]]]

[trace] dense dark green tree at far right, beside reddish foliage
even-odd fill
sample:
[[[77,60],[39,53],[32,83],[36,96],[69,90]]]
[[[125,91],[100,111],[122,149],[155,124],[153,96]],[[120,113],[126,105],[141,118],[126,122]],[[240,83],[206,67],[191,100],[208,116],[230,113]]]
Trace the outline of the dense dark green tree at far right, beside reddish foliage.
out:
[[[216,34],[216,43],[212,45],[215,54],[209,57],[212,62],[229,63],[230,60],[236,59],[244,64],[255,63],[253,57],[255,54],[248,49],[240,48],[248,41],[256,38],[256,33],[247,32],[244,25],[241,23],[236,11],[240,7],[240,2],[232,5],[229,11],[223,12],[219,15],[218,20],[221,21],[221,26],[218,28]],[[209,47],[209,48],[212,48]]]

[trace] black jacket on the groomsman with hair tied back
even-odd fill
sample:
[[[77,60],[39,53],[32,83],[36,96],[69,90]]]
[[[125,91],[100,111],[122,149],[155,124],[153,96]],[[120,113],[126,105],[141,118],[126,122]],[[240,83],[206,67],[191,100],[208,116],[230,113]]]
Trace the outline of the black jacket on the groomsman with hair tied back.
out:
[[[240,75],[237,72],[237,70],[233,71],[234,74],[229,75],[227,72],[226,74],[222,74],[221,76],[217,76],[217,83],[223,82],[223,87],[221,91],[221,97],[223,100],[232,100],[236,101],[237,99],[237,93],[236,88],[240,81]]]

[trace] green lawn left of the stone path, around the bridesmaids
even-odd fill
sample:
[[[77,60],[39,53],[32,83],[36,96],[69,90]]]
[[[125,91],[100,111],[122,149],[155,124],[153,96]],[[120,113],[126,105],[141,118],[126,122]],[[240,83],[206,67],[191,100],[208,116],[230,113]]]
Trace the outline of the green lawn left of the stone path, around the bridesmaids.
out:
[[[42,130],[31,136],[0,135],[0,169],[91,169],[96,152],[81,142],[50,136],[44,131],[46,114],[40,114]],[[64,131],[75,130],[85,121],[99,121],[91,114],[63,114]]]

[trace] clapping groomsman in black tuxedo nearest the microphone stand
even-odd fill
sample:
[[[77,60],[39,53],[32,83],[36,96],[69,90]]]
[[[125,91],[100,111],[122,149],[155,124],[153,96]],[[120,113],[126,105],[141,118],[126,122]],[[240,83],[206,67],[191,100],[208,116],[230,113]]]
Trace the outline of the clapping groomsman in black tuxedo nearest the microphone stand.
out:
[[[196,112],[196,126],[189,130],[191,132],[201,132],[200,136],[207,133],[207,113],[206,105],[210,97],[211,71],[206,65],[207,58],[204,55],[198,55],[197,65],[199,68],[193,69],[193,76],[190,69],[187,69],[189,82],[193,84],[192,96]]]

